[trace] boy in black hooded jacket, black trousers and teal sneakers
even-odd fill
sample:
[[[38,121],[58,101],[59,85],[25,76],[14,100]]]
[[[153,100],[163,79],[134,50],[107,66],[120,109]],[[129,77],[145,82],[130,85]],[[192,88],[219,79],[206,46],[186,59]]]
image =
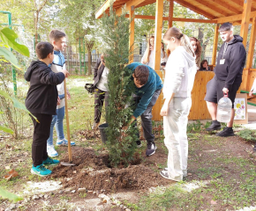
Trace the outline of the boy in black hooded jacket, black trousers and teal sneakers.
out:
[[[56,85],[69,76],[67,70],[54,73],[49,64],[54,59],[53,46],[49,42],[40,42],[35,48],[39,61],[31,62],[24,75],[26,81],[30,82],[26,95],[26,108],[38,121],[33,120],[34,135],[32,143],[33,166],[31,173],[41,177],[48,176],[51,171],[44,166],[56,165],[58,160],[53,160],[47,154],[47,140],[52,115],[56,114],[58,99]]]

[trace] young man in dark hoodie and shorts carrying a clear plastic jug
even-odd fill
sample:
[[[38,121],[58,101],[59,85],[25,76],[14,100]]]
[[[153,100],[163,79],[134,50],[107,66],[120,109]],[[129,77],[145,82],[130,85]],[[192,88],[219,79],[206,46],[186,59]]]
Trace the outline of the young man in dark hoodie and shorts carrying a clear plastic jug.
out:
[[[233,35],[233,25],[224,23],[219,29],[221,35],[222,47],[218,54],[215,66],[215,77],[207,83],[207,108],[212,117],[212,125],[207,131],[221,129],[221,123],[216,120],[217,103],[223,97],[223,93],[228,94],[232,101],[231,119],[217,136],[227,137],[234,135],[232,126],[235,116],[234,101],[237,90],[242,83],[243,69],[246,60],[246,51],[243,45],[243,38],[239,35]]]

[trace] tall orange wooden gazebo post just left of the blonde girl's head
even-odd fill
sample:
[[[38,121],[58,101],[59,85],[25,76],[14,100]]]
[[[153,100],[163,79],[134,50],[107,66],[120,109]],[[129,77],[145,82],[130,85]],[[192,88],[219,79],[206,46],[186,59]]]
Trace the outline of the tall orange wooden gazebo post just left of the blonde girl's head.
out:
[[[154,70],[160,70],[161,65],[161,42],[162,42],[162,15],[163,0],[156,0],[155,6],[155,29],[154,29]]]

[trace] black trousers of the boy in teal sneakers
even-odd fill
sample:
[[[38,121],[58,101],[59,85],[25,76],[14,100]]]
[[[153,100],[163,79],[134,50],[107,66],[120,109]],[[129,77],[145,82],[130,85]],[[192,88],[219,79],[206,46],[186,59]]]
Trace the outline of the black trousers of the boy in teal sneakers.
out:
[[[33,115],[40,122],[38,123],[33,120],[34,124],[34,135],[32,142],[32,160],[34,167],[42,164],[42,161],[48,158],[47,154],[47,140],[49,139],[49,130],[50,123],[52,120],[52,115],[44,114],[44,113],[33,113]]]

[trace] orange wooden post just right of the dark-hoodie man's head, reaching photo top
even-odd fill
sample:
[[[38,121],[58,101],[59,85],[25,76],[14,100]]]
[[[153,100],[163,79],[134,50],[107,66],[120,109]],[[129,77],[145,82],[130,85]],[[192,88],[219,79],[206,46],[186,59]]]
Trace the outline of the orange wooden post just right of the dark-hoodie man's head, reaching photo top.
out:
[[[244,0],[244,10],[242,15],[240,36],[243,38],[243,44],[246,47],[248,27],[250,24],[250,13],[252,7],[252,0]]]

